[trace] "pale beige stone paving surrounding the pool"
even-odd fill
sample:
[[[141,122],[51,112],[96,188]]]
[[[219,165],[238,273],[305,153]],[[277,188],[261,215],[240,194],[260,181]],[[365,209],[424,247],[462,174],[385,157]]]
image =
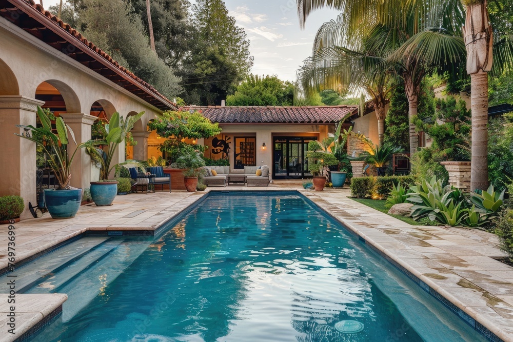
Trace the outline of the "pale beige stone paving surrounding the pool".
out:
[[[299,190],[504,341],[513,341],[513,268],[491,258],[503,256],[495,235],[475,229],[410,226],[348,198],[348,189],[315,192],[304,190],[298,182],[275,182],[269,187],[117,196],[113,206],[83,206],[73,219],[53,220],[46,215],[15,224],[16,258],[19,262],[86,230],[154,230],[208,191],[236,190]],[[0,269],[7,266],[7,227],[0,225]],[[64,296],[60,300],[64,301]],[[2,298],[0,312],[5,309]],[[18,324],[24,331],[55,306],[55,298],[38,298],[43,306],[34,312],[41,314],[26,315],[30,316],[27,321],[21,317]],[[46,301],[49,308],[44,307]],[[2,313],[0,328],[5,324]],[[0,334],[0,341],[10,340],[7,338],[10,336]]]

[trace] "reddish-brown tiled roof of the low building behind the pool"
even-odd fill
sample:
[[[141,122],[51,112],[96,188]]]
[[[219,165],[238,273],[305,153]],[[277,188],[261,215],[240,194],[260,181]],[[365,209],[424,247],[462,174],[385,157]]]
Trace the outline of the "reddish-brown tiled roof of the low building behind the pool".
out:
[[[334,124],[347,114],[358,113],[358,106],[322,107],[185,107],[201,111],[220,124]]]

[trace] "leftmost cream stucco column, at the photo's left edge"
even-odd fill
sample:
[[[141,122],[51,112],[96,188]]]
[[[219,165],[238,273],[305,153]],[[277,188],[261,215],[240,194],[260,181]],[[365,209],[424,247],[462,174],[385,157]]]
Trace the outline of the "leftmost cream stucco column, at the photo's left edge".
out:
[[[20,218],[30,218],[31,202],[36,205],[35,143],[18,137],[23,128],[14,125],[36,125],[37,106],[44,102],[25,96],[0,96],[0,165],[4,167],[0,178],[0,196],[18,195],[25,202]]]

